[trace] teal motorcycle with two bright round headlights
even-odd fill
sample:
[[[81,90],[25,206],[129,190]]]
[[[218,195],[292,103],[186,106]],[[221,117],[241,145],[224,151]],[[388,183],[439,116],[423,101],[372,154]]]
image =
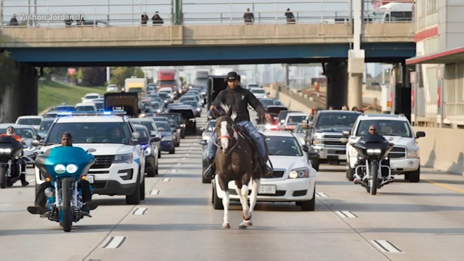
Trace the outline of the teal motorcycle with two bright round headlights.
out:
[[[54,188],[45,190],[48,211],[40,217],[59,222],[65,232],[71,231],[72,222],[78,222],[84,216],[91,217],[90,211],[81,210],[84,202],[77,183],[85,179],[90,166],[96,162],[90,154],[94,151],[79,147],[56,147],[39,151],[35,159],[35,166]]]

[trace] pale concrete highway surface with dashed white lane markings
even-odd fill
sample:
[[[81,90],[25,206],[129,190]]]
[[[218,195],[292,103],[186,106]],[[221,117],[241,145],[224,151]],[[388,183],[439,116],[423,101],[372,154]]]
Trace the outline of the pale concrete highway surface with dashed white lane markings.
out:
[[[204,115],[206,113],[203,113]],[[204,125],[205,118],[199,119]],[[147,197],[94,196],[99,207],[63,232],[31,215],[34,183],[0,189],[1,260],[8,261],[462,261],[464,178],[423,170],[420,183],[397,182],[371,196],[348,182],[344,166],[322,165],[316,210],[295,203],[259,203],[253,227],[231,229],[202,184],[199,136],[187,136],[174,155],[162,154],[160,175],[146,178]],[[32,171],[31,171],[32,174]],[[28,175],[28,180],[33,176]],[[397,177],[399,179],[399,177]]]

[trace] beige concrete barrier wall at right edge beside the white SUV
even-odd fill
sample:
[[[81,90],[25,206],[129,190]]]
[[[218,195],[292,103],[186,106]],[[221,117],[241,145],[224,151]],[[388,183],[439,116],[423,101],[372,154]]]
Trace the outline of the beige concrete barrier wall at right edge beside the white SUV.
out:
[[[413,127],[414,132],[424,131],[417,139],[420,165],[464,175],[464,131],[456,129]]]

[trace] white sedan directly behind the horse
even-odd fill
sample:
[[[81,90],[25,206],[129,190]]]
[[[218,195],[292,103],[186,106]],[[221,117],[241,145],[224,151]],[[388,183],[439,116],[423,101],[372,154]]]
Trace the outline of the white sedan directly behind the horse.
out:
[[[296,202],[301,210],[312,211],[316,205],[316,170],[308,159],[318,157],[308,152],[290,131],[262,131],[267,137],[269,158],[274,167],[270,178],[261,178],[258,202]],[[249,184],[251,188],[251,182]],[[218,189],[216,189],[218,188]],[[218,176],[213,183],[214,209],[222,209],[224,192],[219,189]],[[229,182],[229,197],[239,201],[235,182]],[[250,189],[251,191],[251,189]]]

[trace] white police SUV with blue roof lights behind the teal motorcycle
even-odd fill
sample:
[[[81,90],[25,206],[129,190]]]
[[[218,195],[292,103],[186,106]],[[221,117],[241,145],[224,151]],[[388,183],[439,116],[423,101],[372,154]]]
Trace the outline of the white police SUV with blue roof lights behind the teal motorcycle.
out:
[[[140,133],[125,116],[126,112],[91,111],[58,112],[43,143],[42,151],[60,146],[63,132],[72,135],[73,146],[84,150],[95,149],[97,162],[90,167],[86,180],[93,193],[124,195],[127,204],[139,204],[145,199],[145,155]],[[61,115],[62,114],[62,115]],[[38,142],[38,141],[35,141]],[[36,190],[45,182],[35,168]]]

